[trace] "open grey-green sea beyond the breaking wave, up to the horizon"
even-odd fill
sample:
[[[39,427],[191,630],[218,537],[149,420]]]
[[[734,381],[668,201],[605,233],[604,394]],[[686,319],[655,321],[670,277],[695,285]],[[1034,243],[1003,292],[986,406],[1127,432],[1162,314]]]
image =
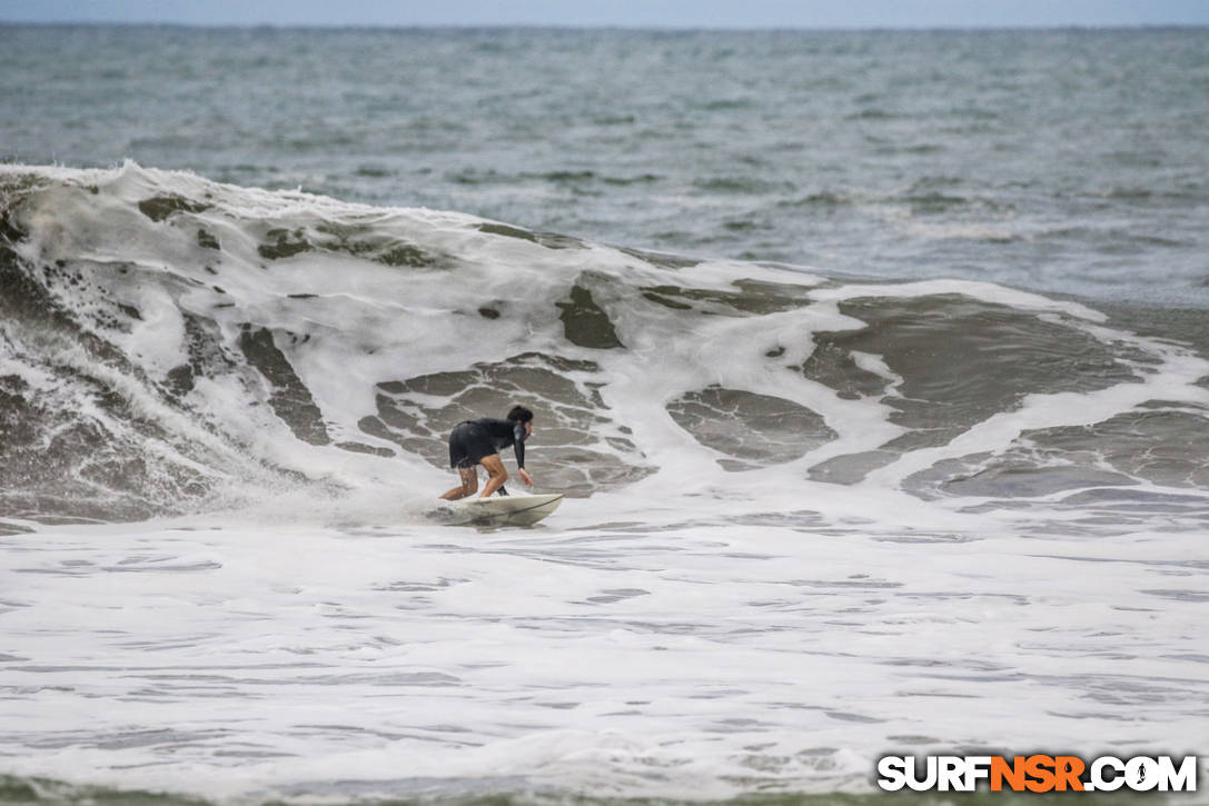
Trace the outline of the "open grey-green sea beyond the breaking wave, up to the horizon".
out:
[[[7,30],[7,162],[1209,306],[1199,30]]]

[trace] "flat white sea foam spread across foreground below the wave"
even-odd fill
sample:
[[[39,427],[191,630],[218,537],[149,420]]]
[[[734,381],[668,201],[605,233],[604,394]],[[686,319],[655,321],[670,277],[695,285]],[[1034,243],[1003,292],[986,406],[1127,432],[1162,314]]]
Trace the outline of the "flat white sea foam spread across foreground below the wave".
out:
[[[840,528],[844,505],[787,529],[687,498],[667,515],[694,524],[653,528],[654,503],[609,497],[522,532],[5,538],[6,767],[210,795],[727,796],[861,790],[893,748],[1196,750],[1201,540],[983,518],[953,543],[898,503]]]

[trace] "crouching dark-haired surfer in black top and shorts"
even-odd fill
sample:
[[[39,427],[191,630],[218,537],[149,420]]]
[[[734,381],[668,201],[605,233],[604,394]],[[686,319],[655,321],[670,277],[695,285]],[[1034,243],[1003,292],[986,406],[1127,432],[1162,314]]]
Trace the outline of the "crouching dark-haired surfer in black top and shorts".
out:
[[[533,412],[523,406],[513,406],[507,419],[481,417],[455,425],[450,433],[450,466],[457,468],[462,485],[441,498],[456,501],[473,495],[479,489],[479,469],[475,465],[480,464],[487,469],[488,477],[479,498],[487,498],[497,489],[502,491],[504,482],[508,481],[508,471],[504,470],[504,460],[499,458],[499,452],[508,446],[516,453],[516,470],[521,475],[521,481],[532,487],[533,479],[525,469],[525,440],[532,433]]]

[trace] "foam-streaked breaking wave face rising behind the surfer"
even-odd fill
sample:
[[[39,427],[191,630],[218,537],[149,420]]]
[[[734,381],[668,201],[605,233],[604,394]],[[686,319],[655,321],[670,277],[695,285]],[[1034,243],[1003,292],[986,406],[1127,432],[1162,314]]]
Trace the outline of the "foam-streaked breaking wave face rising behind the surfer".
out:
[[[773,474],[1128,518],[1201,517],[1209,489],[1209,361],[991,284],[4,166],[0,313],[10,520],[430,495],[447,430],[514,401],[543,485],[579,497]]]

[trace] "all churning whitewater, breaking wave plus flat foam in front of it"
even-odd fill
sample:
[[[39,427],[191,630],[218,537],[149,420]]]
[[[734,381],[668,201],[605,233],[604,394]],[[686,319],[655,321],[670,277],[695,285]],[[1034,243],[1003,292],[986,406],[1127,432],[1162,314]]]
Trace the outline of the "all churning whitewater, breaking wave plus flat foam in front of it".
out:
[[[1209,359],[1136,314],[133,162],[0,199],[8,785],[856,796],[887,753],[1203,750]],[[449,428],[513,402],[571,498],[434,522]]]

